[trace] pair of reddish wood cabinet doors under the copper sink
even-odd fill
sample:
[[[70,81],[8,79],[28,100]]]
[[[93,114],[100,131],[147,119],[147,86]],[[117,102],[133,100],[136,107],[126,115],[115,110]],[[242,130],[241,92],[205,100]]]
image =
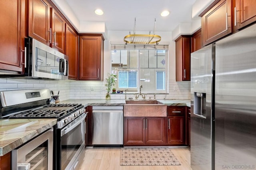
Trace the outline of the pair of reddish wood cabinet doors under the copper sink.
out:
[[[166,145],[166,117],[125,117],[124,146]]]

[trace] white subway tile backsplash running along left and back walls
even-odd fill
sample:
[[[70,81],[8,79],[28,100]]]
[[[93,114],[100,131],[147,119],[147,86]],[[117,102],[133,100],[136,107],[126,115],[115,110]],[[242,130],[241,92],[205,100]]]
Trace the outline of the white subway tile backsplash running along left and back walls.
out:
[[[49,88],[55,94],[60,91],[60,101],[68,99],[105,99],[105,82],[75,80],[40,80],[25,78],[0,78],[0,91],[32,88]],[[148,94],[146,99],[153,94]],[[111,99],[124,99],[124,94],[111,94]],[[127,94],[134,98],[133,94]],[[169,80],[169,94],[156,94],[156,99],[190,99],[190,82]]]

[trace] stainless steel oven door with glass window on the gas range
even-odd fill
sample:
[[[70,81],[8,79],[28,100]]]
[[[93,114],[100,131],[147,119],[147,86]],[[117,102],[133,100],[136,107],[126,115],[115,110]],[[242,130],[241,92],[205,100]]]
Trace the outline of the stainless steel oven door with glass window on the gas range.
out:
[[[80,115],[62,129],[57,129],[57,169],[73,170],[83,160],[84,153],[84,122],[86,114]],[[59,138],[59,140],[58,140]]]

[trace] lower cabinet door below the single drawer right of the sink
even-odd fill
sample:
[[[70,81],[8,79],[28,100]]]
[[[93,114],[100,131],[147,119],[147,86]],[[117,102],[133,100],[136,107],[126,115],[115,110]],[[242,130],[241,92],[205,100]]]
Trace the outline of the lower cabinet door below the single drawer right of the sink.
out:
[[[185,145],[184,116],[168,116],[168,144]]]

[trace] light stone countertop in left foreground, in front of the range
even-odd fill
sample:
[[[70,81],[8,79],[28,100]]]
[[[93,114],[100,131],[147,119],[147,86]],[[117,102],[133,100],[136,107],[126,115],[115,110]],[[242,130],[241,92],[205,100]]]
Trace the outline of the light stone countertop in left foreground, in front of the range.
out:
[[[56,125],[57,119],[0,119],[0,156]]]

